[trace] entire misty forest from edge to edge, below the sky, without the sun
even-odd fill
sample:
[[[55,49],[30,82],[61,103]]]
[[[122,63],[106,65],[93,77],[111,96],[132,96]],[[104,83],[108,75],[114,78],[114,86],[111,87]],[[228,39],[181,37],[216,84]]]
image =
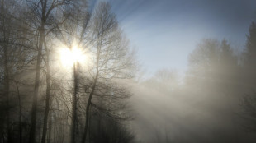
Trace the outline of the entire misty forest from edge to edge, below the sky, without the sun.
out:
[[[0,2],[1,143],[256,141],[254,21],[240,50],[201,39],[184,76],[145,79],[109,3]],[[74,44],[86,62],[62,65]]]

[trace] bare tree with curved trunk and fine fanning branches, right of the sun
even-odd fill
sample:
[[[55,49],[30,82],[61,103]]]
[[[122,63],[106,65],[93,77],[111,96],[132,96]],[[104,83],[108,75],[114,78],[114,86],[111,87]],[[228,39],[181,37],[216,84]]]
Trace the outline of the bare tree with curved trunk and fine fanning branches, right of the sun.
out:
[[[134,53],[130,52],[128,42],[118,28],[116,17],[106,2],[100,2],[92,15],[92,39],[95,39],[90,49],[92,64],[88,64],[91,91],[85,111],[83,143],[87,141],[91,107],[101,110],[111,118],[127,118],[122,116],[122,105],[118,105],[114,99],[130,97],[130,92],[123,85],[116,85],[116,82],[132,78],[131,69],[135,67]]]

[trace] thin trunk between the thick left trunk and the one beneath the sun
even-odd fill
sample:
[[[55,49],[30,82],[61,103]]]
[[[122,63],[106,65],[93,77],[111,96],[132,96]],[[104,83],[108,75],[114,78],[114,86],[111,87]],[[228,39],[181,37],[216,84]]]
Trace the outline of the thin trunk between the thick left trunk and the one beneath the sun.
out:
[[[45,41],[45,39],[44,39]],[[46,44],[45,44],[46,47]],[[45,143],[46,133],[47,133],[47,123],[48,123],[48,114],[50,111],[50,55],[49,51],[46,52],[46,100],[45,100],[45,115],[44,115],[44,125],[43,125],[43,135],[41,143]]]

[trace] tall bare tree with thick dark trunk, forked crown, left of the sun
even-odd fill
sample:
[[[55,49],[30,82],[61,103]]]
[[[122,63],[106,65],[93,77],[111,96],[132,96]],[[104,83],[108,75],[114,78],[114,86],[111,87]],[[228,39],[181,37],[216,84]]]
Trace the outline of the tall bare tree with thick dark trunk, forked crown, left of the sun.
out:
[[[39,41],[38,41],[38,53],[36,59],[36,78],[35,78],[35,86],[34,86],[34,95],[33,95],[33,103],[31,108],[31,131],[30,131],[30,139],[29,142],[36,141],[36,110],[37,110],[37,97],[39,95],[39,87],[40,87],[40,67],[42,62],[42,50],[45,41],[45,36],[47,36],[52,30],[57,29],[59,21],[57,21],[57,16],[59,16],[59,11],[64,10],[64,6],[72,6],[73,2],[70,0],[37,0],[37,1],[27,1],[29,7],[31,8],[31,25],[36,25],[36,30],[39,33]],[[60,22],[61,23],[61,22]],[[46,112],[47,114],[47,112]],[[47,121],[47,116],[45,118]],[[46,122],[47,123],[47,122]],[[42,138],[42,142],[45,142],[45,130],[47,125],[44,126],[44,136]]]

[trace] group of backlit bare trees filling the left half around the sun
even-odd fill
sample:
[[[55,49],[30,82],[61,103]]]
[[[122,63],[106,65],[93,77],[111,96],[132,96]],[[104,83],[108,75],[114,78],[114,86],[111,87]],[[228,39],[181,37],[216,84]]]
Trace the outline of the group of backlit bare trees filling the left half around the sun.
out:
[[[1,0],[0,9],[0,142],[133,141],[135,54],[107,2],[91,11],[83,0]],[[62,66],[61,49],[73,47],[86,61]]]

